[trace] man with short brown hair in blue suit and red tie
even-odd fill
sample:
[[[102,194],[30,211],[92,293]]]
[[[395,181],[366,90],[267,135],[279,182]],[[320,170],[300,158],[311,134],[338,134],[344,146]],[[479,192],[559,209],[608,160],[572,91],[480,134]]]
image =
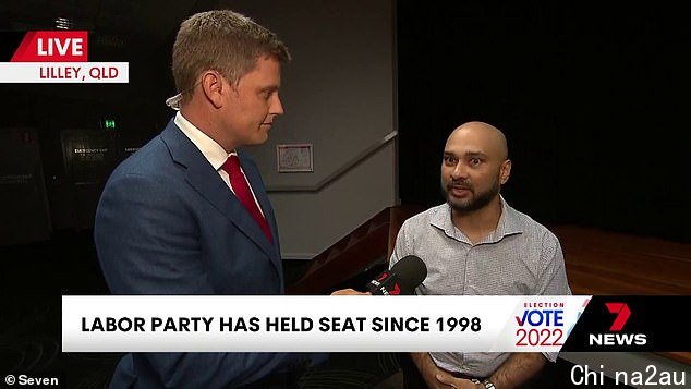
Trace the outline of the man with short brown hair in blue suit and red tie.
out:
[[[289,60],[275,34],[234,12],[181,24],[172,56],[181,93],[170,101],[180,111],[114,170],[96,212],[96,248],[113,294],[283,293],[274,209],[240,147],[266,142],[283,113],[280,66]],[[231,177],[235,156],[244,177]],[[134,353],[111,387],[283,387],[280,373],[300,356]]]

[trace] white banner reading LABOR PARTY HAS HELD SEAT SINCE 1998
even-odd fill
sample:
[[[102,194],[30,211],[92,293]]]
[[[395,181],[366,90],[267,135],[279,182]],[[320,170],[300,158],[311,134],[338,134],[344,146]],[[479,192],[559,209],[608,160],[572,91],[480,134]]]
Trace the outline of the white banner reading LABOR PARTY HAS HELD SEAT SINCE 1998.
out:
[[[62,296],[63,352],[558,352],[591,296]]]

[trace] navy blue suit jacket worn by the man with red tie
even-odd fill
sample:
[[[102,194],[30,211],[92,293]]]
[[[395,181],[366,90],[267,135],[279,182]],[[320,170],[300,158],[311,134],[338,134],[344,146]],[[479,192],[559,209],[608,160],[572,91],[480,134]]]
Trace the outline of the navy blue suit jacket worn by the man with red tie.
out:
[[[171,120],[106,184],[94,228],[113,294],[282,294],[278,230],[255,163],[242,169],[274,243],[218,172]],[[279,370],[286,353],[135,353],[111,387],[235,387]]]

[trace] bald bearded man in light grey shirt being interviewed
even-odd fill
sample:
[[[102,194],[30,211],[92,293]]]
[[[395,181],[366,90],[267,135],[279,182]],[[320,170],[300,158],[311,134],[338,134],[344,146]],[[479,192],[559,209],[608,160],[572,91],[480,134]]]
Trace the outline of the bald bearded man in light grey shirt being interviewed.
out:
[[[390,266],[407,255],[427,265],[416,294],[571,294],[558,239],[499,194],[510,174],[501,131],[470,122],[451,133],[441,161],[446,204],[407,220],[391,255]],[[514,388],[556,358],[556,353],[411,354],[429,388]],[[407,375],[407,387],[420,376]]]

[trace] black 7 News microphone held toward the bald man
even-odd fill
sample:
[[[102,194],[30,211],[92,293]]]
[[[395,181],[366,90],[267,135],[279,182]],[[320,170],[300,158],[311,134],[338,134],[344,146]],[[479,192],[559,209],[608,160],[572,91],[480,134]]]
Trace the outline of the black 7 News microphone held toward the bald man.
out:
[[[414,255],[407,255],[367,283],[373,295],[414,294],[413,291],[427,277],[425,263]]]

